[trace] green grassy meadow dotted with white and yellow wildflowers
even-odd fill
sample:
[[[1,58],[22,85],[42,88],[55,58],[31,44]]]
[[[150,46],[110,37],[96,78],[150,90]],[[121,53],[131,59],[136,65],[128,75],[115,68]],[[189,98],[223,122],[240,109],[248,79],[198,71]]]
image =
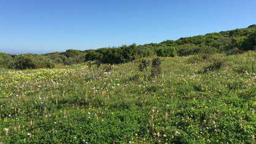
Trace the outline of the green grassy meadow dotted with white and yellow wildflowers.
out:
[[[255,143],[255,58],[2,69],[0,143]]]

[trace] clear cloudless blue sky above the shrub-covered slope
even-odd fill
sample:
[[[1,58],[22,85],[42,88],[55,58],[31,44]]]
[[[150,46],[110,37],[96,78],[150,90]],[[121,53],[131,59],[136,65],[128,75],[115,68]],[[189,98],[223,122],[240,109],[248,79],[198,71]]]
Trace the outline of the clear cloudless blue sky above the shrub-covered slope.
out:
[[[158,43],[256,24],[255,0],[1,0],[0,52]]]

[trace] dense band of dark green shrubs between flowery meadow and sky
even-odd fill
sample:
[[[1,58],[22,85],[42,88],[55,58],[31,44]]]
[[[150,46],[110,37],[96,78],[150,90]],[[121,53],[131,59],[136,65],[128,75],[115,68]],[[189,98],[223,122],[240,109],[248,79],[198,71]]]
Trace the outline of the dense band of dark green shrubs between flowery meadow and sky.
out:
[[[186,56],[201,52],[238,54],[256,47],[256,25],[248,28],[220,33],[209,33],[199,36],[180,38],[176,41],[166,40],[158,44],[144,44],[120,47],[105,47],[96,50],[73,50],[53,52],[44,55],[22,54],[9,55],[0,53],[0,68],[52,68],[56,65],[71,65],[89,60],[100,63],[127,63],[136,58],[159,56]]]

